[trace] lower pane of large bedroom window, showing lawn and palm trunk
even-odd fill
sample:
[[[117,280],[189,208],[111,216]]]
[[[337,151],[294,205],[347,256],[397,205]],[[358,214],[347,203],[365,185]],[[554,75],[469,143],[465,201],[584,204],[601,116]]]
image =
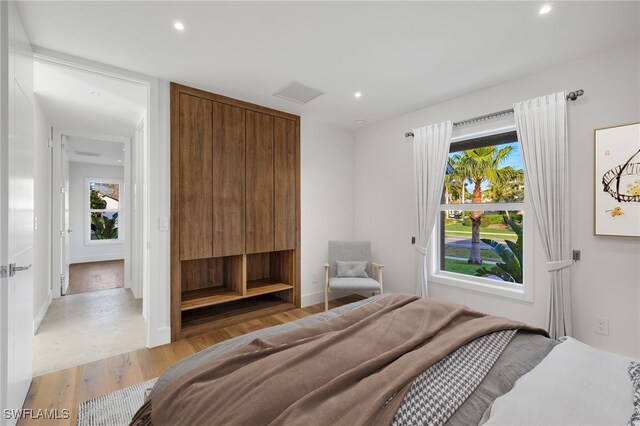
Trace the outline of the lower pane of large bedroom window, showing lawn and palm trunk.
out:
[[[522,284],[522,211],[441,215],[441,270]]]

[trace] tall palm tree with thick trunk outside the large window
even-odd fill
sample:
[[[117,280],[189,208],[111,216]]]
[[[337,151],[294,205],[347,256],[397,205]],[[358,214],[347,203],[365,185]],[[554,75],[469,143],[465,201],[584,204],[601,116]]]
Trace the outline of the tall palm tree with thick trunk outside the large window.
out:
[[[511,167],[502,167],[504,161],[511,153],[511,146],[498,149],[497,146],[485,146],[481,148],[468,149],[460,156],[458,167],[459,173],[466,176],[473,184],[471,201],[473,203],[482,202],[483,183],[501,183],[513,179],[519,173]],[[480,219],[481,210],[474,210],[470,213],[471,219],[471,251],[469,263],[481,265],[480,257]]]

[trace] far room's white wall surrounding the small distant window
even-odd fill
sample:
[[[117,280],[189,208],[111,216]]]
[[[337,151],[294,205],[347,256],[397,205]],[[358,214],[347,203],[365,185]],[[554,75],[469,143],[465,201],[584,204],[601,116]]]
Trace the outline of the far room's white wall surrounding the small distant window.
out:
[[[124,259],[124,241],[109,244],[86,244],[85,178],[87,177],[121,179],[124,184],[124,167],[69,163],[69,229],[73,230],[69,234],[69,263]],[[124,207],[126,208],[126,206]],[[124,217],[124,212],[120,216]],[[125,235],[124,239],[126,240],[126,238]]]

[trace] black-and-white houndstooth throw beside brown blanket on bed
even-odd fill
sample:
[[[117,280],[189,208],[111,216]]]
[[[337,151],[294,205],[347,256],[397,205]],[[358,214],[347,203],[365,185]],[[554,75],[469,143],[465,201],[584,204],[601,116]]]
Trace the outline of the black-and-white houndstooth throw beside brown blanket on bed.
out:
[[[479,337],[420,374],[391,424],[445,424],[478,387],[515,333],[516,330],[505,330]]]

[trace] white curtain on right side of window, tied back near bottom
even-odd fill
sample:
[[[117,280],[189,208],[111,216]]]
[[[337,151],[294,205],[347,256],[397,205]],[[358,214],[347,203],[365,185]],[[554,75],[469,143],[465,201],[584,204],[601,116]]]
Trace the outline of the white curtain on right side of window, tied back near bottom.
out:
[[[527,193],[549,271],[549,334],[571,335],[569,146],[565,92],[513,105]]]

